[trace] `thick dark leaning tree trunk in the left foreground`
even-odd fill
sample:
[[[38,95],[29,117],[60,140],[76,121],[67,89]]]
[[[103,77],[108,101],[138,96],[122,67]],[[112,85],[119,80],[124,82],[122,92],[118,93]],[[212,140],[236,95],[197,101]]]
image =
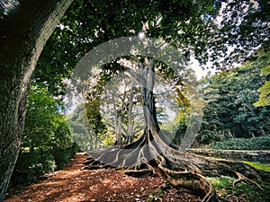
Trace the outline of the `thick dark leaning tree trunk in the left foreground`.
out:
[[[17,160],[31,74],[72,0],[20,1],[0,19],[0,201]]]

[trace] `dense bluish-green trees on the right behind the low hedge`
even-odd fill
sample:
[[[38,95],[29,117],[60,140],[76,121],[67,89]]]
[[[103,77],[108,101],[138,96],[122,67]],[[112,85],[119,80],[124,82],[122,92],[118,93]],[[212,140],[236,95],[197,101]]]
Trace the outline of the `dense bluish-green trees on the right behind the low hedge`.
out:
[[[202,80],[203,109],[202,129],[198,137],[209,142],[207,136],[221,138],[264,136],[270,131],[270,108],[255,107],[257,89],[265,82],[260,75],[266,66],[267,54],[257,57],[228,72]]]

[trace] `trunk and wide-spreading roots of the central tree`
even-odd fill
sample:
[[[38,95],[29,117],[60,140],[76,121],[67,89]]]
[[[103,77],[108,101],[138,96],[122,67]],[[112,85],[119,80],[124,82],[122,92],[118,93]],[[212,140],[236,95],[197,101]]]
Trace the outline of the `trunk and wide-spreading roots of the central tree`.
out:
[[[133,143],[118,147],[110,147],[102,152],[89,152],[93,158],[90,166],[101,168],[112,166],[128,169],[127,174],[140,175],[154,173],[156,169],[175,187],[193,189],[202,193],[202,201],[216,201],[215,190],[202,175],[247,175],[260,179],[259,176],[270,176],[268,172],[258,171],[243,162],[210,160],[208,158],[188,154],[184,147],[189,146],[190,137],[183,138],[182,147],[176,148],[166,141],[166,134],[160,130],[157,122],[157,107],[154,97],[155,66],[153,62],[140,66],[137,79],[141,85],[141,98],[144,114],[144,133]],[[197,106],[196,106],[197,107]],[[200,111],[196,111],[199,113]],[[199,115],[198,115],[199,116]],[[193,116],[190,126],[199,124]],[[189,134],[188,134],[189,135]],[[193,135],[193,134],[190,134]],[[184,136],[186,137],[186,136]]]

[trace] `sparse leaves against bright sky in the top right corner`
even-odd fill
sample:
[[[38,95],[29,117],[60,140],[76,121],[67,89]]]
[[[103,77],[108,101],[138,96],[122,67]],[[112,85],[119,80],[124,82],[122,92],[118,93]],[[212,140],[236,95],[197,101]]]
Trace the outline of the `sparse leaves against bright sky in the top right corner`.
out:
[[[203,48],[213,53],[210,54],[211,61],[216,68],[220,66],[224,70],[235,62],[243,63],[255,48],[269,50],[269,27],[266,24],[270,4],[267,0],[217,2],[224,5],[220,9],[220,21],[210,24],[209,35],[203,41]]]

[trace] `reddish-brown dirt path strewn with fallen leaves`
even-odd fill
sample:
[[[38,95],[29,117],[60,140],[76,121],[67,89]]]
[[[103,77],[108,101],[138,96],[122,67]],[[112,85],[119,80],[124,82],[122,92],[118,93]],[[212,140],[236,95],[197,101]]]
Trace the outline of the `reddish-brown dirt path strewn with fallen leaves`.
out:
[[[84,154],[76,154],[65,169],[54,172],[48,179],[10,189],[4,202],[138,202],[160,201],[161,198],[162,201],[200,201],[200,198],[184,190],[169,189],[166,181],[158,176],[133,178],[112,169],[83,170],[85,159]]]

